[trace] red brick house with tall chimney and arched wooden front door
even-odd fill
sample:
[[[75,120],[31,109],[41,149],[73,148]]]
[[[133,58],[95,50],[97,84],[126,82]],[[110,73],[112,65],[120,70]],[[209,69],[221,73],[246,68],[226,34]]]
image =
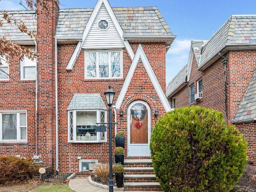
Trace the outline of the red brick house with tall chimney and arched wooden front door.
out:
[[[113,148],[122,130],[126,158],[150,158],[155,122],[171,110],[165,56],[175,38],[158,8],[111,8],[98,0],[95,8],[59,10],[58,1],[48,3],[52,14],[9,12],[37,32],[38,42],[15,26],[0,28],[1,37],[38,53],[37,61],[12,58],[12,67],[0,66],[10,75],[0,72],[0,153],[42,155],[44,166],[60,172],[83,172],[92,160],[107,163],[108,129],[94,126],[107,121],[104,92],[111,84],[118,122]],[[132,122],[143,118],[144,132],[134,131]],[[131,141],[132,134],[145,142]]]

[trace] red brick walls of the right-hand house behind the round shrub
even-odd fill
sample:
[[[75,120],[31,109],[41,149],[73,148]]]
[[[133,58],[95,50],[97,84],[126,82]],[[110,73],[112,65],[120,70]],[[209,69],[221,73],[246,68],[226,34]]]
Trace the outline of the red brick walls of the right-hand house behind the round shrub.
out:
[[[255,71],[256,51],[229,51],[224,56],[228,59],[228,124],[232,124]],[[203,98],[197,100],[195,104],[218,110],[225,116],[225,74],[222,59],[218,59],[206,70],[200,72],[197,71],[197,64],[195,58],[193,58],[190,82],[172,96],[172,98],[176,98],[176,107],[189,106],[189,86],[194,83],[196,92],[196,81],[200,77],[203,78]],[[237,124],[236,128],[240,130],[248,142],[248,160],[255,163],[255,123]]]

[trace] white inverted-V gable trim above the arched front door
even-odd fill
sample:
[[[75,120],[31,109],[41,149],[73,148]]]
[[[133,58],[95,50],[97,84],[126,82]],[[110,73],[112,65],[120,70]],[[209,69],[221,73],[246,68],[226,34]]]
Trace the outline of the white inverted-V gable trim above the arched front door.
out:
[[[154,88],[164,106],[164,109],[166,110],[166,112],[170,111],[172,108],[170,107],[170,104],[164,94],[164,91],[162,90],[162,88],[160,86],[158,79],[156,78],[156,74],[154,73],[154,71],[150,65],[150,62],[148,61],[148,58],[147,58],[141,44],[139,45],[138,50],[134,56],[134,59],[132,60],[132,64],[130,66],[129,72],[124,81],[124,85],[123,85],[122,90],[116,100],[116,108],[119,109],[122,104],[122,101],[124,99],[124,96],[126,94],[128,86],[130,85],[132,76],[134,74],[134,71],[136,69],[139,59],[141,59],[142,63],[144,64],[144,67],[145,67],[146,71],[148,72],[148,76],[150,77],[150,80],[151,80],[152,84],[154,85]]]

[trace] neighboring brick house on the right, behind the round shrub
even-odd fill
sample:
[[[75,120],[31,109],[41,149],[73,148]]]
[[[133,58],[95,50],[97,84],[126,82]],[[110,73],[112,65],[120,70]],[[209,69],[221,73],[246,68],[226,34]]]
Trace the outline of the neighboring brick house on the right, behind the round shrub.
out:
[[[244,135],[248,161],[254,163],[255,70],[256,15],[231,16],[208,42],[191,42],[188,64],[166,89],[172,107],[198,105],[222,112]]]

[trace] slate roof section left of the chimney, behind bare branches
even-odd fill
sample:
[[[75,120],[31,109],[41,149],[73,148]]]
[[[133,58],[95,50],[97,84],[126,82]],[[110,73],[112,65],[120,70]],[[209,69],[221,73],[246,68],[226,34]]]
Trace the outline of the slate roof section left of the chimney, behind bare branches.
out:
[[[36,32],[36,14],[35,11],[8,11],[11,18],[17,20],[17,22],[24,22],[28,29]],[[3,26],[0,27],[0,37],[5,36],[7,39],[14,38],[30,38],[27,34],[20,32],[16,25],[8,24],[3,19],[3,15],[0,14],[0,19],[3,22]]]

